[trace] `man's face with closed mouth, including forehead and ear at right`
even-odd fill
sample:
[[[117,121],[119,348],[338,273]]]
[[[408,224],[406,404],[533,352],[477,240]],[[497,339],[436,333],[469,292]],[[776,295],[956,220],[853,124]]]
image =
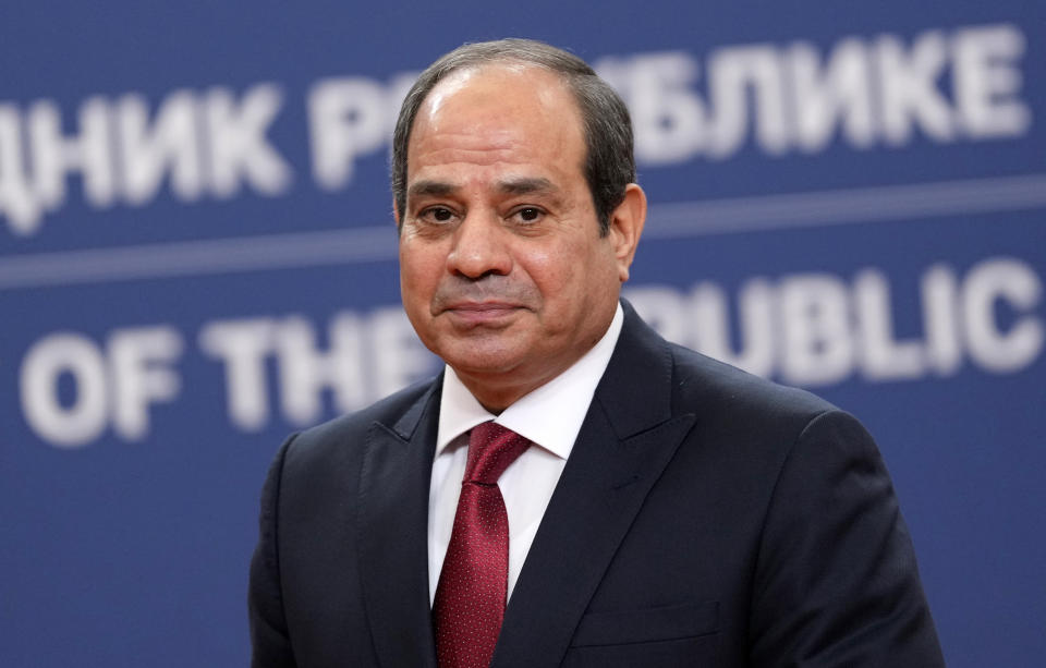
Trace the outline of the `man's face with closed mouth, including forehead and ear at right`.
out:
[[[613,317],[638,231],[600,236],[584,159],[572,95],[534,66],[454,72],[414,121],[403,306],[488,409],[564,371]]]

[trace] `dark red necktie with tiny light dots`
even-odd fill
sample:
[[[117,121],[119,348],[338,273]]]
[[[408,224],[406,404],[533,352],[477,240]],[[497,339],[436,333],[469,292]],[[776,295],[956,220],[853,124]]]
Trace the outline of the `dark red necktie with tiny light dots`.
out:
[[[473,427],[450,545],[433,603],[440,668],[486,668],[504,617],[509,517],[498,478],[531,445],[492,422]]]

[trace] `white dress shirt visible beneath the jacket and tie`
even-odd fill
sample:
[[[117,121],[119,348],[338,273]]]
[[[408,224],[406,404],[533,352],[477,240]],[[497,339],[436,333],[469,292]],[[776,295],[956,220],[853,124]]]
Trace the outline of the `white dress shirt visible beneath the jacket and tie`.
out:
[[[428,495],[428,594],[436,598],[439,571],[450,544],[461,481],[469,454],[467,432],[492,420],[526,437],[526,449],[498,479],[509,515],[509,596],[545,515],[559,475],[574,447],[596,386],[610,362],[621,333],[621,304],[603,338],[570,368],[491,415],[462,385],[449,366],[443,373],[436,459]]]

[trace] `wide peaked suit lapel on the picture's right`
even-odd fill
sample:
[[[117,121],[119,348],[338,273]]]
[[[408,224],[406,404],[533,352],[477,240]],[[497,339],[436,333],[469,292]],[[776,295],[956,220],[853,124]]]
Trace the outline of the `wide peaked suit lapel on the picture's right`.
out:
[[[671,410],[671,353],[625,325],[509,600],[492,666],[555,666],[654,483],[694,425]]]

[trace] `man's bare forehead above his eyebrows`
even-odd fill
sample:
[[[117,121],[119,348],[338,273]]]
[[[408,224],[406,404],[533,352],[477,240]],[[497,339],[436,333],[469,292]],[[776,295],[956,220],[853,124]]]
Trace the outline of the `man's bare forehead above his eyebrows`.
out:
[[[452,72],[418,109],[408,145],[409,180],[433,165],[584,160],[581,113],[556,73],[520,63]]]

